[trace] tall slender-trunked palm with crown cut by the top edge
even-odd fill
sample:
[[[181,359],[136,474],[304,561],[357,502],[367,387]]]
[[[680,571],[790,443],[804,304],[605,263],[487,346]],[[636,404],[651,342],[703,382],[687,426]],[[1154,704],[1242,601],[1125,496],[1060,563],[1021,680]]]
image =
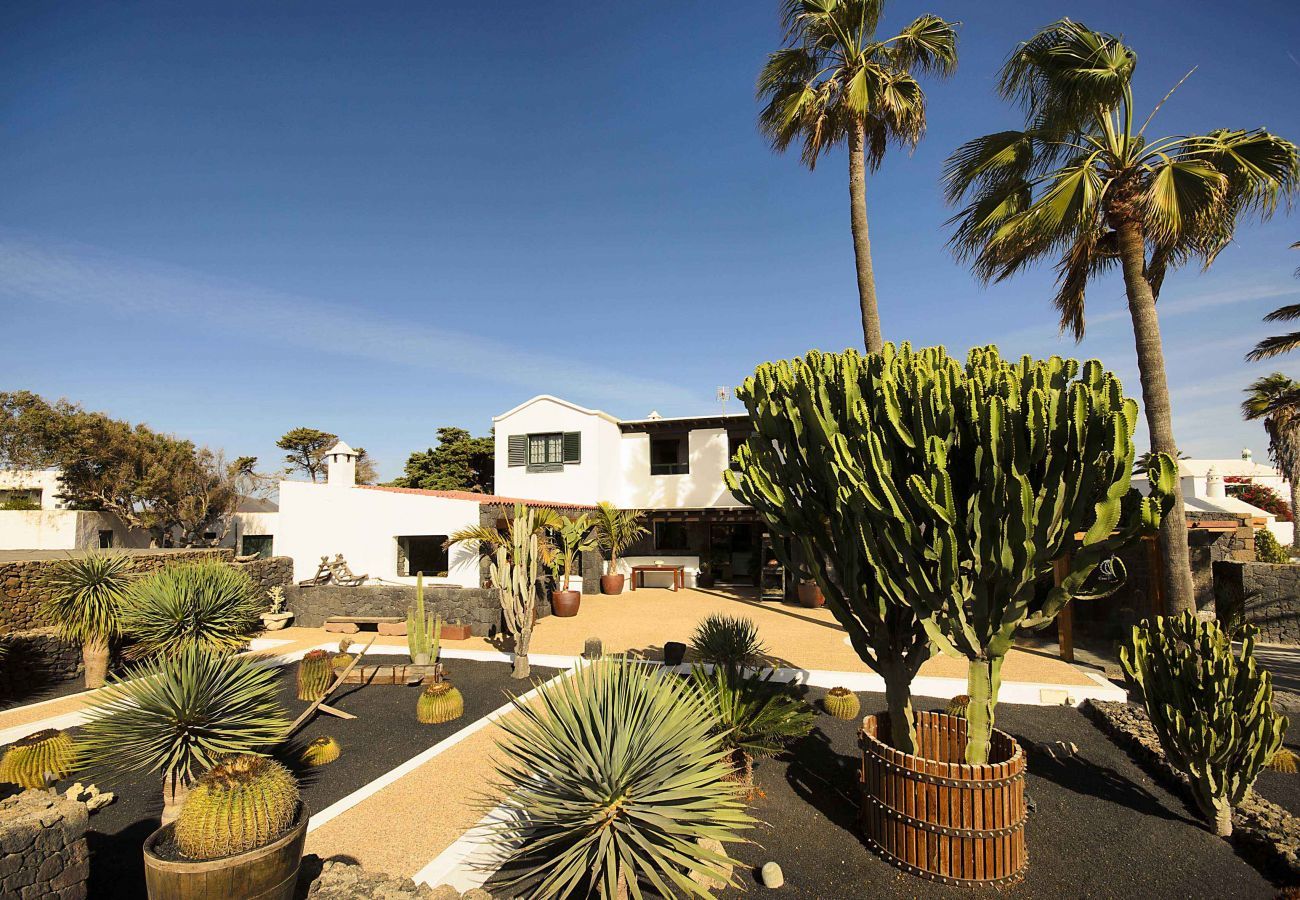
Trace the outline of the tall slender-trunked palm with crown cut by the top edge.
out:
[[[926,133],[926,95],[914,72],[957,69],[957,27],[920,16],[892,38],[876,29],[884,0],[784,0],[785,46],[758,77],[759,130],[784,151],[801,143],[812,169],[849,146],[849,221],[858,268],[858,302],[867,350],[884,345],[867,232],[867,168],[875,172],[890,143],[915,147]]]

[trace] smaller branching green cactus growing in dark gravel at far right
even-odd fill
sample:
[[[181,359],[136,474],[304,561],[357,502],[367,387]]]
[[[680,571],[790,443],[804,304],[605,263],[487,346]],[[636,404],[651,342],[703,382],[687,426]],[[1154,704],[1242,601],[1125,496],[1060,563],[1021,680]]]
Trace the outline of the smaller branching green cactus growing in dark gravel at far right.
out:
[[[1193,613],[1134,626],[1119,662],[1147,705],[1165,758],[1192,784],[1218,835],[1232,834],[1232,806],[1254,784],[1287,730],[1273,713],[1273,676],[1254,661],[1256,628],[1240,655],[1217,622]]]

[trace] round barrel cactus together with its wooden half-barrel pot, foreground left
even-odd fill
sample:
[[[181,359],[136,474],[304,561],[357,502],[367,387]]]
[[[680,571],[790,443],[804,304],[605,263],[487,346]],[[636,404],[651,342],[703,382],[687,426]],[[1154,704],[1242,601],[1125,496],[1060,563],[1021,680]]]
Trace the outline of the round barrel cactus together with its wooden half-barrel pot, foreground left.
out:
[[[179,818],[144,840],[151,900],[290,900],[307,840],[307,808],[292,774],[273,760],[220,760]]]

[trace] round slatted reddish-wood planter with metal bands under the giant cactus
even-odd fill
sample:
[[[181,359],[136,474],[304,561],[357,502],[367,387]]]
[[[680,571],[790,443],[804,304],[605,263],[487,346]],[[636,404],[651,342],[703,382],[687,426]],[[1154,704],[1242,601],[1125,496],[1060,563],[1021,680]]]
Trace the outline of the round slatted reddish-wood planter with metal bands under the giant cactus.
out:
[[[968,766],[966,719],[916,713],[916,749],[893,749],[889,714],[862,722],[862,828],[904,871],[944,884],[1004,884],[1028,865],[1024,750],[993,730],[989,763]]]

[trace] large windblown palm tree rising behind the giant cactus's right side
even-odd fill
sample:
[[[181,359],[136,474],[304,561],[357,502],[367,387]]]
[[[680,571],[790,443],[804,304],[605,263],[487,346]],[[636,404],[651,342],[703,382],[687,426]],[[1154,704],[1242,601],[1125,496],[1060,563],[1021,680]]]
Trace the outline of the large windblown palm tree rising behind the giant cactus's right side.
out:
[[[952,245],[984,281],[1056,259],[1054,303],[1075,339],[1084,333],[1088,281],[1118,264],[1150,446],[1176,458],[1156,316],[1161,282],[1193,258],[1210,264],[1242,215],[1266,217],[1290,199],[1300,165],[1292,143],[1264,130],[1148,139],[1160,104],[1135,125],[1136,62],[1118,38],[1065,18],[1020,44],[998,90],[1024,108],[1027,125],[976,138],[949,157],[949,202],[968,202],[950,220]],[[1180,488],[1161,546],[1170,610],[1193,609]]]

